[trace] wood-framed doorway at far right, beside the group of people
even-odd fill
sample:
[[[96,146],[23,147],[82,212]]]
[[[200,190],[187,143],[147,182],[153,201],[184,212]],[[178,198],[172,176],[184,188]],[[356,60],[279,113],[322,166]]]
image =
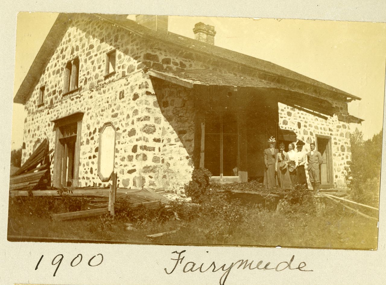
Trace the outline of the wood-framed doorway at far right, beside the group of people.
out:
[[[319,168],[320,174],[320,187],[321,188],[333,188],[334,187],[334,175],[332,168],[332,145],[331,137],[329,136],[316,136],[316,148],[317,151],[322,154],[322,164]]]

